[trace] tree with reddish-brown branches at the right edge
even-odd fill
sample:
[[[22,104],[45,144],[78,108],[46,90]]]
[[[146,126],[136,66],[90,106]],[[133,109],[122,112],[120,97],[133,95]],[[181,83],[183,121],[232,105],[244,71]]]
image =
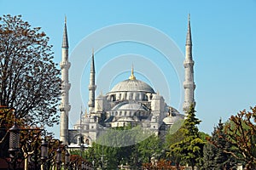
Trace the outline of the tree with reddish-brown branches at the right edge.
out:
[[[237,160],[244,161],[247,169],[256,168],[256,106],[251,111],[240,111],[230,117],[225,127],[225,133],[233,150],[227,150]]]

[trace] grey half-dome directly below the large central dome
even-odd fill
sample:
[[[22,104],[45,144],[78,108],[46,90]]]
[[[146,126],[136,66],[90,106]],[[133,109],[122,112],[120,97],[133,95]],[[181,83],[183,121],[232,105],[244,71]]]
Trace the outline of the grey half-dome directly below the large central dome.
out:
[[[123,102],[119,105],[115,105],[112,111],[147,111],[143,105],[137,103]]]

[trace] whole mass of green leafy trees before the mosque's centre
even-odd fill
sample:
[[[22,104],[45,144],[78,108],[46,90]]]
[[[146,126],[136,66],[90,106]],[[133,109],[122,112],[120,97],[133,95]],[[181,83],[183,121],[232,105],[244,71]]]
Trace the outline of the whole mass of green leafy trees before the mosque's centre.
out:
[[[142,131],[139,126],[116,127],[108,129],[85,150],[85,158],[95,161],[96,167],[108,165],[108,169],[116,169],[121,164],[129,164],[137,169],[152,156],[160,157],[161,150],[160,139],[155,134]]]

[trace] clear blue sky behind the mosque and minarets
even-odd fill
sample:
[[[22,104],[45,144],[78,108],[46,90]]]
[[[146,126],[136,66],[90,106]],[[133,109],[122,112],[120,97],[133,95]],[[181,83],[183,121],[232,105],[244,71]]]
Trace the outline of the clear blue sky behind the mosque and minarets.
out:
[[[200,129],[211,133],[220,117],[226,121],[232,114],[256,105],[256,1],[3,1],[0,0],[0,14],[22,14],[32,26],[40,26],[50,38],[55,52],[55,61],[61,61],[61,41],[64,16],[67,15],[67,31],[70,54],[75,55],[79,44],[88,40],[89,35],[106,26],[124,23],[150,26],[165,34],[184,53],[187,32],[187,16],[191,14],[193,57],[195,60],[195,100],[197,116],[201,119]],[[152,35],[153,36],[153,35]],[[150,37],[150,35],[149,35]],[[104,37],[102,37],[104,38]],[[96,94],[108,92],[101,87],[102,80],[109,84],[124,80],[129,75],[128,68],[135,65],[137,77],[148,82],[156,91],[163,94],[166,102],[180,111],[180,91],[177,68],[167,65],[161,51],[145,44],[119,42],[104,48],[97,48],[96,41],[90,39],[88,47],[96,48],[96,76],[102,72],[116,72],[112,79],[97,80]],[[168,45],[166,45],[168,46]],[[90,57],[89,48],[84,48],[84,56]],[[79,52],[81,54],[81,52]],[[124,56],[123,56],[124,55]],[[131,55],[131,57],[127,57]],[[83,55],[80,57],[83,58]],[[105,57],[104,57],[105,56]],[[140,57],[137,57],[140,56]],[[143,57],[141,57],[143,56]],[[160,59],[156,59],[155,57]],[[122,58],[124,57],[124,59]],[[123,62],[119,59],[123,59]],[[144,61],[143,61],[144,59]],[[79,57],[73,57],[79,62]],[[116,61],[119,67],[109,64]],[[149,67],[157,68],[166,78],[155,81],[143,74]],[[114,63],[114,62],[113,62]],[[152,65],[153,63],[153,65]],[[82,77],[77,77],[75,64],[70,71],[72,87],[79,80],[81,88],[71,90],[70,127],[79,119],[81,105],[88,101],[88,63],[84,64]],[[177,66],[177,65],[176,65]],[[183,69],[183,65],[179,65]],[[153,69],[152,69],[153,70]],[[151,70],[151,71],[152,71]],[[104,77],[104,74],[102,77]],[[119,75],[118,75],[119,74]],[[153,74],[153,73],[152,73]],[[107,82],[106,82],[107,81]],[[167,83],[166,89],[158,83]],[[183,82],[183,80],[180,80]],[[102,83],[102,82],[101,82]],[[109,88],[108,86],[108,88]],[[168,94],[169,93],[169,94]],[[79,94],[81,99],[78,99]],[[56,136],[59,127],[55,127]]]

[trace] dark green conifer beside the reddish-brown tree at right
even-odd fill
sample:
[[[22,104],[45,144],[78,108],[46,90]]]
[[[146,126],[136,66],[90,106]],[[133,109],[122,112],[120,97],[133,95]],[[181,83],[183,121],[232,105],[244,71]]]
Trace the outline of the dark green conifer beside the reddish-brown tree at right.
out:
[[[214,127],[212,138],[208,138],[204,147],[205,169],[231,169],[235,167],[235,159],[224,150],[231,150],[231,144],[224,133],[224,123],[220,119],[218,126]]]

